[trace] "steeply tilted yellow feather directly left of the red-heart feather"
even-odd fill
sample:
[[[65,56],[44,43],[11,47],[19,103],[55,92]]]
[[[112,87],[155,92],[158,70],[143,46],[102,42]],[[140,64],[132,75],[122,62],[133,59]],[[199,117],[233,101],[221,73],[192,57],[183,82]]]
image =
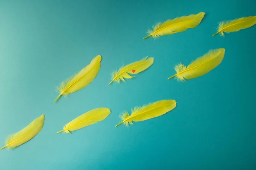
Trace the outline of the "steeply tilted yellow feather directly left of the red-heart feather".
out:
[[[61,85],[57,87],[60,95],[54,102],[56,102],[61,95],[67,96],[89,85],[99,72],[101,60],[102,57],[100,55],[94,57],[90,64],[79,71],[79,73],[67,81],[62,82]]]

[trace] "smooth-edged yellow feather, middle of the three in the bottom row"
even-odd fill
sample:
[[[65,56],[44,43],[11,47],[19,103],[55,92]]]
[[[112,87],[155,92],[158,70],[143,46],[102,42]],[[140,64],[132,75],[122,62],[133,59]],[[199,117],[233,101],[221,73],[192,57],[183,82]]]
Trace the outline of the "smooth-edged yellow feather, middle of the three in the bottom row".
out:
[[[82,114],[81,116],[77,117],[76,119],[72,120],[71,122],[67,123],[63,130],[57,132],[65,132],[70,133],[70,131],[79,130],[83,127],[93,125],[94,123],[98,123],[108,117],[111,113],[109,108],[96,108],[87,113]]]

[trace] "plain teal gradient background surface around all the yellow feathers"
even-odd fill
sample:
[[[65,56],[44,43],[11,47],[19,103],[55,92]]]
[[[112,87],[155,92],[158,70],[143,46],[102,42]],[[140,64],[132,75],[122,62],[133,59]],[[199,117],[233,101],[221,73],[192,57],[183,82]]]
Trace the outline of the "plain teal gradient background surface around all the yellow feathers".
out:
[[[0,142],[46,115],[44,128],[15,150],[0,150],[0,170],[256,169],[256,26],[220,37],[222,20],[256,15],[255,0],[0,0]],[[201,24],[147,39],[165,21],[201,11]],[[223,62],[187,82],[167,80],[210,49]],[[61,98],[55,86],[102,55],[91,85]],[[127,82],[111,84],[122,64],[154,57]],[[129,128],[119,113],[162,99],[177,107]],[[94,108],[112,113],[73,132],[62,126]]]

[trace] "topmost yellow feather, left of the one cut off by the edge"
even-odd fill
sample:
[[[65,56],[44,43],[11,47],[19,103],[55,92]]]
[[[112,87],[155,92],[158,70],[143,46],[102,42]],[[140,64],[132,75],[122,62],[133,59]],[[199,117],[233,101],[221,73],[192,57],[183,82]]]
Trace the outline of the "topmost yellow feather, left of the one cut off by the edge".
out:
[[[153,26],[153,30],[148,30],[148,37],[158,38],[163,35],[175,34],[177,32],[186,31],[188,28],[195,28],[201,23],[204,18],[204,12],[196,15],[183,16],[174,20],[167,20],[164,23],[157,23]]]

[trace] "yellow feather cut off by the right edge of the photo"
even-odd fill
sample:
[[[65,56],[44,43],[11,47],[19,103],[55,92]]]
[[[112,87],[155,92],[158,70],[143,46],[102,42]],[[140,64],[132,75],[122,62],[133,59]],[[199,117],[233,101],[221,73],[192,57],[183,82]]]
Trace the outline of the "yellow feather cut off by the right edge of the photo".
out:
[[[232,21],[222,21],[219,23],[218,31],[212,35],[221,34],[224,36],[224,32],[236,32],[241,29],[249,28],[256,24],[256,16],[254,17],[242,17]]]

